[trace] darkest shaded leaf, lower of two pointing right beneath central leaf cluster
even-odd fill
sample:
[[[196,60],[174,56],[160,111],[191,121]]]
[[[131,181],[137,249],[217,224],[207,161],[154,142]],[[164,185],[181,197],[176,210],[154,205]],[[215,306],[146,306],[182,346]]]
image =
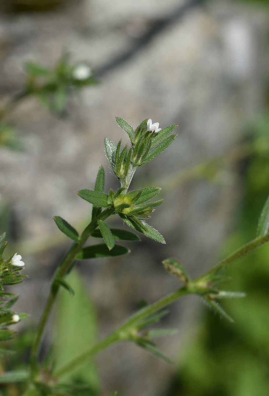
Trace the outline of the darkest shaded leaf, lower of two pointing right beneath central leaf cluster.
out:
[[[125,246],[115,245],[112,250],[109,250],[105,244],[83,247],[77,254],[77,260],[94,259],[97,257],[113,257],[121,256],[130,253],[130,250]]]

